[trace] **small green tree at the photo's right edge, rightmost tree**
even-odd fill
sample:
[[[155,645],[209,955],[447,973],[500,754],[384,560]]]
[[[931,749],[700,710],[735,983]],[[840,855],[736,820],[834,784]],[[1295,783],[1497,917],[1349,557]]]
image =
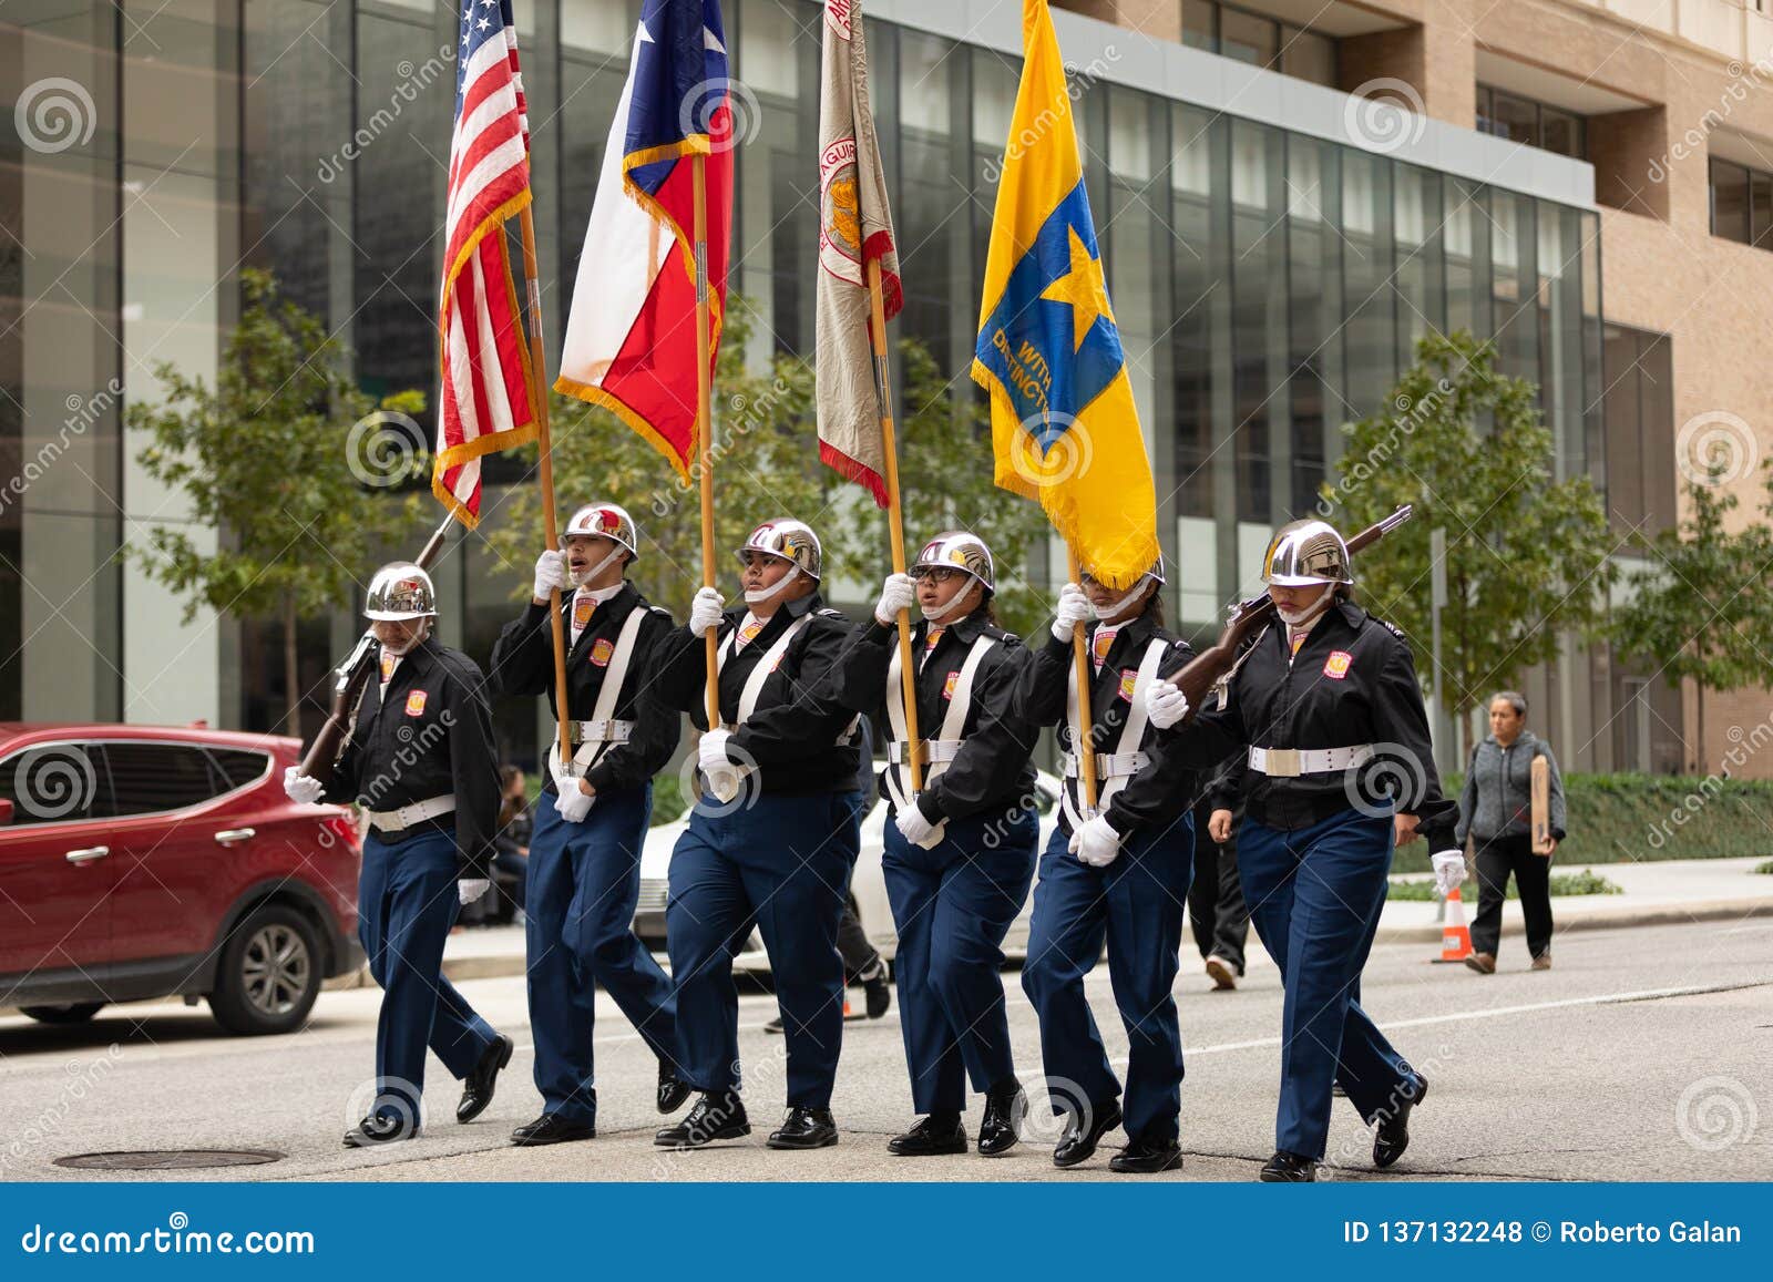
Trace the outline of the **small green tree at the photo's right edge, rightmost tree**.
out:
[[[1626,580],[1612,638],[1624,658],[1656,668],[1670,686],[1693,681],[1699,700],[1699,771],[1706,773],[1707,690],[1764,686],[1773,672],[1773,461],[1761,521],[1729,530],[1738,498],[1718,477],[1690,481],[1688,514],[1654,535],[1636,534],[1645,566]]]

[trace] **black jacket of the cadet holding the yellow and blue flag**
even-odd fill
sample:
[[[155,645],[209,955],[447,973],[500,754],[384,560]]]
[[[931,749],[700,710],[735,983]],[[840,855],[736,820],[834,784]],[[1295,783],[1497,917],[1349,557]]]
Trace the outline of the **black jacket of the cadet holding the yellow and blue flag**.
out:
[[[1097,622],[1089,626],[1090,642],[1094,642],[1099,626]],[[1188,642],[1160,628],[1149,614],[1121,624],[1101,670],[1090,683],[1090,739],[1096,752],[1113,752],[1121,741],[1121,727],[1126,725],[1128,713],[1133,711],[1133,677],[1138,676],[1138,665],[1144,663],[1145,647],[1152,638],[1161,638],[1170,647],[1158,665],[1160,677],[1177,672],[1195,656]],[[1058,747],[1067,752],[1073,750],[1071,725],[1066,718],[1071,656],[1071,642],[1053,638],[1051,629],[1048,629],[1046,644],[1034,653],[1034,663],[1021,674],[1014,699],[1018,716],[1037,725],[1057,725]],[[1138,745],[1128,745],[1128,752],[1135,750],[1145,752],[1151,762],[1126,780],[1103,814],[1122,837],[1135,830],[1158,835],[1188,814],[1190,805],[1193,805],[1195,771],[1168,761],[1172,748],[1160,741],[1149,722],[1144,739]],[[1066,787],[1073,789],[1073,796],[1076,796],[1080,780],[1067,778]],[[1082,803],[1078,809],[1083,809]],[[1071,832],[1071,817],[1064,810],[1060,810],[1058,823],[1067,833]]]

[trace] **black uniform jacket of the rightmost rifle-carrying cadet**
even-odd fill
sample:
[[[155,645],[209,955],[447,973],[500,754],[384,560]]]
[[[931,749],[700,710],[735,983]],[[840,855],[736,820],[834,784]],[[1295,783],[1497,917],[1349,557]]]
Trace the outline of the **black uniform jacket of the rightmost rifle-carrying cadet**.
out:
[[[1401,812],[1417,816],[1429,849],[1454,844],[1457,805],[1441,796],[1417,665],[1392,624],[1353,601],[1337,601],[1307,633],[1298,656],[1289,656],[1285,626],[1277,621],[1250,647],[1227,697],[1229,704],[1209,700],[1193,722],[1163,732],[1183,745],[1188,764],[1206,768],[1243,747],[1371,743],[1376,752],[1353,777],[1273,778],[1250,770],[1243,784],[1248,817],[1293,832],[1390,793]]]

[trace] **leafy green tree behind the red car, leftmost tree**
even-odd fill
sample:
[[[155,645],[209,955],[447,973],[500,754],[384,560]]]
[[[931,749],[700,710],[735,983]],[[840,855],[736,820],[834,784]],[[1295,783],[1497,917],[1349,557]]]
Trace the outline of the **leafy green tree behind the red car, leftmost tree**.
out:
[[[184,493],[197,527],[218,532],[207,551],[186,528],[154,525],[129,557],[186,598],[186,622],[209,606],[282,624],[294,734],[296,622],[348,599],[378,541],[417,520],[417,496],[388,502],[378,491],[429,470],[402,431],[424,395],[378,403],[349,371],[349,351],[319,317],[284,298],[271,275],[243,271],[241,316],[215,387],[160,363],[160,404],[128,410],[128,426],[149,438],[142,468]]]

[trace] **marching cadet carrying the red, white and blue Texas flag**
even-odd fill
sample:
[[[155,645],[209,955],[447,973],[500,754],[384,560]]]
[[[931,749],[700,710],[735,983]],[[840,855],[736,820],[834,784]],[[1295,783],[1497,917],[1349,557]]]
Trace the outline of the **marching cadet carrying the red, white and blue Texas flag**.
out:
[[[665,910],[683,1078],[702,1098],[656,1142],[693,1149],[750,1135],[732,956],[757,926],[787,1041],[787,1119],[769,1147],[817,1149],[837,1144],[837,920],[860,844],[855,715],[830,697],[830,681],[855,629],[819,598],[819,539],[801,521],[764,521],[738,557],[745,608],[722,612],[720,592],[700,589],[658,670],[660,693],[702,731],[706,789],[672,851]],[[711,628],[722,725],[707,729]]]

